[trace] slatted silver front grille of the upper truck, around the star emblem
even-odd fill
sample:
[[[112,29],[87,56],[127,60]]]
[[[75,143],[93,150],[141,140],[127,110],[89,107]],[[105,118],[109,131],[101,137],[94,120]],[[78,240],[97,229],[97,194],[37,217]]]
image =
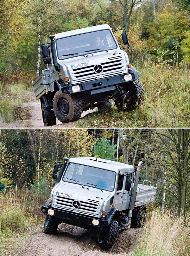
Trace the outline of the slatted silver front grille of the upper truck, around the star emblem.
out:
[[[103,72],[102,73],[95,73],[94,72],[94,65],[91,66],[85,66],[80,68],[74,68],[71,70],[71,75],[73,77],[73,80],[79,80],[84,78],[91,78],[94,77],[94,75],[103,75],[108,74],[110,71],[117,72],[125,70],[126,65],[124,58],[122,56],[112,57],[108,58],[108,61],[100,63],[103,66]]]

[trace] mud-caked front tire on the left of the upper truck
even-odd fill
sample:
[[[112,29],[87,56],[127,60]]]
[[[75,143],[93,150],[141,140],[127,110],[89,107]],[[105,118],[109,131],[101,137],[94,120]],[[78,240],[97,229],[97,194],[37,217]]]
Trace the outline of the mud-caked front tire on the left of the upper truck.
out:
[[[60,109],[59,102],[60,100],[64,100],[67,104],[68,113]],[[68,123],[76,121],[80,118],[82,114],[82,100],[79,96],[74,96],[66,93],[60,93],[57,91],[54,95],[53,100],[54,113],[59,121],[62,123]],[[62,113],[61,113],[62,112]]]

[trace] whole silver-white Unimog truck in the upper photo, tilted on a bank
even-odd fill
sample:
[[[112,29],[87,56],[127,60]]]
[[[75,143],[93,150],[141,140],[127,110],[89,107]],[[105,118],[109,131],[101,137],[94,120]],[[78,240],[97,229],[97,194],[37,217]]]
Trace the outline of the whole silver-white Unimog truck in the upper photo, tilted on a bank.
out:
[[[82,28],[51,35],[50,42],[41,45],[47,69],[32,86],[41,101],[44,126],[55,125],[56,117],[65,123],[79,119],[88,109],[110,108],[111,98],[118,108],[129,111],[141,100],[140,74],[113,31],[107,24]]]

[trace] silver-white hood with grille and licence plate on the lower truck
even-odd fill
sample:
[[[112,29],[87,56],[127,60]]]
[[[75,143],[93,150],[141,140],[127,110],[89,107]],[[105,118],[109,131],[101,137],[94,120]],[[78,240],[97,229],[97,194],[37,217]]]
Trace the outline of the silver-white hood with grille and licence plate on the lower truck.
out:
[[[111,194],[97,188],[61,182],[53,191],[52,207],[75,213],[97,216],[101,213],[105,199]],[[88,189],[87,189],[88,188]]]

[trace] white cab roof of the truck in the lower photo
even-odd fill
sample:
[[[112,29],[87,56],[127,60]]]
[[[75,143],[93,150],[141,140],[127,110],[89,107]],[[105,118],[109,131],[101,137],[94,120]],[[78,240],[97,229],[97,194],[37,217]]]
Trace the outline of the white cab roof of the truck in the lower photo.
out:
[[[96,158],[96,157],[72,157],[69,162],[84,164],[88,166],[93,166],[97,168],[102,168],[106,170],[111,170],[115,172],[132,172],[133,166],[125,163],[119,163],[111,160]]]

